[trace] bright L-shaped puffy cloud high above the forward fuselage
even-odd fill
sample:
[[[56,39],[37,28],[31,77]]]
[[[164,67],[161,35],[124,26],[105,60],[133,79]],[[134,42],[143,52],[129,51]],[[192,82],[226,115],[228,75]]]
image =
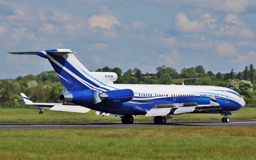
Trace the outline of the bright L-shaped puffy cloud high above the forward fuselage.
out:
[[[204,31],[204,22],[191,21],[186,14],[180,13],[175,18],[175,27],[180,32],[194,33]]]

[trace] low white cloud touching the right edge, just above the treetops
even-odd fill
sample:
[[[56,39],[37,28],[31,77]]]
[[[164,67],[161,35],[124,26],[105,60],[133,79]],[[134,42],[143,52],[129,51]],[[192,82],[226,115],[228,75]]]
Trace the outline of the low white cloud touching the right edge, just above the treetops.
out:
[[[254,63],[254,60],[256,59],[256,53],[251,50],[247,52],[246,54],[238,54],[236,58],[232,58],[228,60],[229,63],[232,64],[243,64],[243,63]]]

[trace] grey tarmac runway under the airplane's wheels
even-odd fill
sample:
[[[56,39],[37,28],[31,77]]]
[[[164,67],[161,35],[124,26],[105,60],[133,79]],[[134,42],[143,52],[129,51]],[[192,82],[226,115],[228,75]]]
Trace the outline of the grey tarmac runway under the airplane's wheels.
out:
[[[122,124],[122,122],[85,122],[85,123],[12,123],[0,124],[0,129],[58,129],[58,128],[128,128],[128,127],[168,127],[168,126],[256,126],[254,120],[230,120],[222,123],[221,120],[194,120],[194,121],[167,121],[165,125],[156,125],[152,121]]]

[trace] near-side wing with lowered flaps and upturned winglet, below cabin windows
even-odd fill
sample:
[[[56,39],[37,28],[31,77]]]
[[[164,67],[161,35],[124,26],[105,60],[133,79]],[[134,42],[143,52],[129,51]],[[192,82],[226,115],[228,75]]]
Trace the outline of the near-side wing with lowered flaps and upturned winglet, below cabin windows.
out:
[[[166,107],[164,107],[166,106]],[[157,108],[152,108],[146,113],[148,116],[166,116],[167,114],[183,114],[190,113],[194,110],[215,110],[221,109],[214,95],[210,95],[210,104],[198,105],[196,103],[181,103],[181,104],[160,104]]]

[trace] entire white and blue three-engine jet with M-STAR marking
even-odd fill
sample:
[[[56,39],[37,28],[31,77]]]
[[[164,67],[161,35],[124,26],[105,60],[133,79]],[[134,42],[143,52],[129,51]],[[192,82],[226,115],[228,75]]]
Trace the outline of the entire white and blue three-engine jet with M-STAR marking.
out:
[[[238,92],[218,86],[114,84],[114,72],[90,72],[69,49],[40,52],[9,52],[32,54],[49,60],[66,87],[62,103],[33,103],[25,94],[26,104],[52,106],[50,110],[89,112],[98,115],[120,116],[123,124],[132,124],[132,115],[154,116],[155,124],[165,124],[171,115],[184,113],[221,114],[222,122],[230,122],[228,116],[240,110],[245,102]]]

